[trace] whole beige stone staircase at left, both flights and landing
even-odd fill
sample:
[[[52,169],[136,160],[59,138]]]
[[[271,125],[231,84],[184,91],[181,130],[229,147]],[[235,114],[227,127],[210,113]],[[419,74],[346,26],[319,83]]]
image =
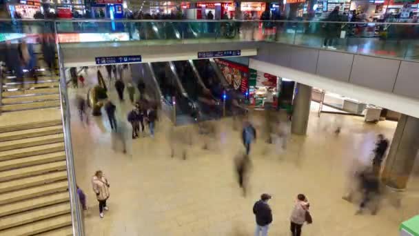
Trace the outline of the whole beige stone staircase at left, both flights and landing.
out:
[[[59,76],[3,74],[0,235],[72,235]]]

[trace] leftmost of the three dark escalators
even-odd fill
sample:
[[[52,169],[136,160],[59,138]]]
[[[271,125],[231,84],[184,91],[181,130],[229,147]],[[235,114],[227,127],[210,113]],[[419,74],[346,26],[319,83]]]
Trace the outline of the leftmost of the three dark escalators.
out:
[[[175,106],[176,124],[190,124],[194,121],[194,106],[187,97],[176,75],[172,72],[170,62],[153,62],[152,70],[159,83],[163,102],[166,106]]]

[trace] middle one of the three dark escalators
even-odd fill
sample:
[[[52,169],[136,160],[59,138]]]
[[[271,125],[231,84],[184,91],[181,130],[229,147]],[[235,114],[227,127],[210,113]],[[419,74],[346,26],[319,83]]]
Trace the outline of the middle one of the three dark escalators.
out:
[[[212,92],[206,88],[205,83],[201,81],[201,76],[196,70],[192,60],[173,61],[174,68],[178,75],[187,97],[190,98],[198,107],[199,119],[209,120],[217,119],[221,116],[220,103],[212,95]]]

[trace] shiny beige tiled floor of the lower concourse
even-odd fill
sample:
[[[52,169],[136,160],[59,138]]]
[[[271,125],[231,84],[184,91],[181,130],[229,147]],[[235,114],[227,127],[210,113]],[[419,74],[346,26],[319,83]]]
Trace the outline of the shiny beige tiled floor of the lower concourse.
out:
[[[121,114],[129,105],[123,107]],[[260,130],[263,119],[252,113],[252,120]],[[260,193],[273,196],[269,235],[289,235],[289,214],[298,193],[309,197],[314,217],[303,235],[398,235],[400,222],[419,213],[416,178],[411,178],[401,208],[386,198],[376,216],[354,215],[356,206],[341,199],[349,170],[354,163],[369,163],[376,135],[392,137],[396,122],[365,124],[362,117],[331,114],[318,118],[312,111],[307,137],[289,137],[286,150],[258,139],[251,153],[249,194],[243,197],[233,171],[233,158],[243,147],[229,119],[216,121],[216,139],[207,138],[210,150],[201,149],[203,138],[192,128],[176,132],[176,154],[187,149],[186,160],[170,157],[172,136],[165,117],[154,139],[146,135],[132,141],[132,155],[112,148],[107,119],[90,121],[85,126],[72,117],[76,177],[90,207],[85,212],[87,235],[253,235],[252,206]],[[336,137],[337,124],[343,128]],[[187,134],[193,135],[192,146],[183,144]],[[103,219],[90,184],[98,169],[110,181],[110,210]]]

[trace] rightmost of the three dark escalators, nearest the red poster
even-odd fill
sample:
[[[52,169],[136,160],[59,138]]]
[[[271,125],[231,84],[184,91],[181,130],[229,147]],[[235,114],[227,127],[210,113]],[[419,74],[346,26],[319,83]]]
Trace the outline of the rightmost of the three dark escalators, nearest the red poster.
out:
[[[245,96],[240,91],[232,88],[214,59],[194,60],[193,63],[212,96],[225,99],[225,115],[243,115],[247,112],[243,104]]]

